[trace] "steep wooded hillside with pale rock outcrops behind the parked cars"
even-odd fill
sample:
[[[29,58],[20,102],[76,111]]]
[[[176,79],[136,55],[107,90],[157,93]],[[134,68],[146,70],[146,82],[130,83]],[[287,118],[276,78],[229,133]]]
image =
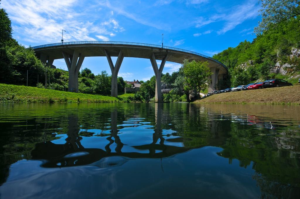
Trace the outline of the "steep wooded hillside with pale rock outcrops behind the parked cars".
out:
[[[258,79],[285,79],[291,83],[300,78],[300,21],[299,17],[285,20],[252,42],[243,41],[236,47],[213,56],[229,69],[229,76],[217,90],[247,85]]]

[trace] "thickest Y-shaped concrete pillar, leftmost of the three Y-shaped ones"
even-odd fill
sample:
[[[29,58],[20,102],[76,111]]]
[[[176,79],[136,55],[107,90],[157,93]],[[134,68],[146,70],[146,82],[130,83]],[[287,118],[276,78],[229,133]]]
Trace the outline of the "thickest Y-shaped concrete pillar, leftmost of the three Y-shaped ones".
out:
[[[64,56],[64,61],[66,62],[69,71],[68,91],[78,93],[78,73],[84,60],[84,56],[76,50],[74,50],[73,55],[69,55],[66,52],[62,52],[62,55]]]

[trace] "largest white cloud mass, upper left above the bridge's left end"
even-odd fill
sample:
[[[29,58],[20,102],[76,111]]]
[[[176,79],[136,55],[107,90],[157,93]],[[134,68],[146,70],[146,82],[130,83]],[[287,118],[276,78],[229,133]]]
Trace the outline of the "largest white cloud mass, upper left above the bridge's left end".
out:
[[[98,13],[77,11],[73,9],[76,5],[76,0],[1,2],[13,22],[14,32],[23,41],[31,43],[60,42],[61,29],[66,30],[65,42],[95,40],[94,34],[110,36],[124,31],[115,19],[110,20],[112,24],[102,25],[92,19]]]

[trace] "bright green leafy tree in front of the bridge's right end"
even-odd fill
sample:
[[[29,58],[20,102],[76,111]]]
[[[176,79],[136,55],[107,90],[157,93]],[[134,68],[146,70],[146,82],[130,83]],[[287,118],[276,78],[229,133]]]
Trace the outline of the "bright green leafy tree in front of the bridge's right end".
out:
[[[186,89],[196,89],[199,95],[201,90],[208,88],[209,77],[213,74],[209,67],[208,62],[184,60],[183,74],[186,81]],[[184,89],[184,90],[186,90]]]

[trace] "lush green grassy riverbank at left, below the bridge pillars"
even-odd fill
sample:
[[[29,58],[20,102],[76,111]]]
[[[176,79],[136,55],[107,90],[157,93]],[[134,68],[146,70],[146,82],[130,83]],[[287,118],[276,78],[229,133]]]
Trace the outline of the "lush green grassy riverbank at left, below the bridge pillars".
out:
[[[0,102],[122,102],[128,101],[129,95],[118,97],[71,93],[30,86],[0,84]]]

